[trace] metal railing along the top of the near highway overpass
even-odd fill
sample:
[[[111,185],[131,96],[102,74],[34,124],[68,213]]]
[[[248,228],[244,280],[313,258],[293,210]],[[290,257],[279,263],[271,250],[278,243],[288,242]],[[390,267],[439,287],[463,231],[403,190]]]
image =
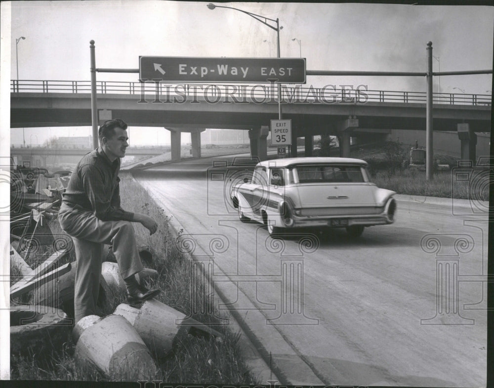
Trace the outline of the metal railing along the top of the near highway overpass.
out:
[[[11,80],[10,91],[41,92],[41,93],[90,93],[90,81],[38,81]],[[262,85],[233,85],[233,84],[165,84],[97,81],[96,92],[100,94],[130,94],[139,96],[144,102],[184,102],[185,100],[199,102],[204,98],[207,102],[241,102],[241,103],[276,103],[278,86],[276,84]],[[367,90],[366,86],[355,88],[336,88],[333,85],[323,87],[302,87],[301,85],[283,84],[282,102],[288,103],[357,103],[402,102],[425,103],[426,93],[420,91],[398,90]],[[433,93],[433,102],[449,105],[484,105],[490,106],[490,94],[468,93]]]

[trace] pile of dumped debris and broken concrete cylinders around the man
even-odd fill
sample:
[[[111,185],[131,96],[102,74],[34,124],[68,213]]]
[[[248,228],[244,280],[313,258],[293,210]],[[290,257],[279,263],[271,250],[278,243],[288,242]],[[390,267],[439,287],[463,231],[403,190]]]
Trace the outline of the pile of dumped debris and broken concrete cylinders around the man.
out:
[[[20,279],[10,287],[11,301],[20,299],[14,302],[19,305],[11,305],[11,353],[22,354],[29,348],[30,354],[51,354],[42,337],[49,333],[48,338],[58,338],[50,351],[61,350],[72,332],[76,362],[96,367],[111,379],[137,381],[155,377],[153,356],[169,354],[178,336],[195,332],[221,339],[219,332],[157,300],[146,301],[140,308],[122,303],[112,315],[90,315],[74,326],[77,262],[60,262],[73,244],[67,235],[55,237],[48,222],[58,216],[69,177],[35,168],[17,167],[11,172],[10,260],[20,272]],[[156,255],[146,246],[139,254],[145,263]],[[33,257],[34,267],[29,264]],[[158,272],[145,268],[136,277],[147,286]],[[100,310],[112,294],[110,288],[126,291],[117,263],[105,261]],[[30,291],[34,291],[33,304],[27,304]]]

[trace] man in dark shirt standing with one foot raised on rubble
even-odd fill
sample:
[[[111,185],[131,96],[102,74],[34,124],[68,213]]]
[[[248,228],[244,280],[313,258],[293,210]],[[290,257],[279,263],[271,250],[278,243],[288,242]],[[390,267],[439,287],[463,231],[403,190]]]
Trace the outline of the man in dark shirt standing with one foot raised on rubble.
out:
[[[103,245],[110,244],[124,278],[129,304],[146,301],[160,290],[147,290],[134,274],[143,269],[131,222],[140,222],[151,234],[158,224],[149,216],[120,206],[120,158],[128,147],[127,124],[106,121],[98,131],[99,148],[84,155],[72,172],[58,219],[76,251],[75,322],[96,314]]]

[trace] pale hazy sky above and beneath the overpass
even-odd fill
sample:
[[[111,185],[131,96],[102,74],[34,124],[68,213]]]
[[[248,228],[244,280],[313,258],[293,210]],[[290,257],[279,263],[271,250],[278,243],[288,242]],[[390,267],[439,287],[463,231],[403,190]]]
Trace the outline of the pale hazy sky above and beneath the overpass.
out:
[[[89,41],[96,67],[138,68],[139,55],[276,56],[276,31],[232,9],[207,2],[12,1],[10,79],[89,81]],[[217,5],[220,5],[218,3]],[[280,19],[282,57],[307,59],[307,70],[426,71],[433,43],[434,71],[493,67],[494,8],[362,3],[222,3]],[[296,38],[300,41],[293,41]],[[267,42],[264,42],[264,41]],[[271,51],[270,51],[271,50]],[[137,74],[97,73],[98,81],[137,81]],[[424,77],[315,77],[307,84],[367,85],[372,90],[426,91]],[[440,89],[439,89],[440,87]],[[434,91],[490,94],[492,75],[443,76]],[[457,89],[453,89],[457,88]],[[132,131],[133,144],[169,143],[160,128]],[[50,136],[88,135],[90,127],[25,129],[26,143]],[[21,144],[22,129],[10,141]],[[183,142],[190,137],[182,136]]]

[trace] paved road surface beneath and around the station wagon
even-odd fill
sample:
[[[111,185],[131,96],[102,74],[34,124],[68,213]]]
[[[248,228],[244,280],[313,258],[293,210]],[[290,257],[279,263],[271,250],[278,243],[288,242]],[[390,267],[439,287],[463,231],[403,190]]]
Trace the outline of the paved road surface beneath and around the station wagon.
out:
[[[486,385],[486,217],[400,196],[396,223],[357,240],[333,229],[282,241],[229,213],[231,182],[206,179],[211,166],[187,161],[136,178],[213,258],[215,285],[272,352],[283,384]],[[439,302],[449,304],[438,313]]]

